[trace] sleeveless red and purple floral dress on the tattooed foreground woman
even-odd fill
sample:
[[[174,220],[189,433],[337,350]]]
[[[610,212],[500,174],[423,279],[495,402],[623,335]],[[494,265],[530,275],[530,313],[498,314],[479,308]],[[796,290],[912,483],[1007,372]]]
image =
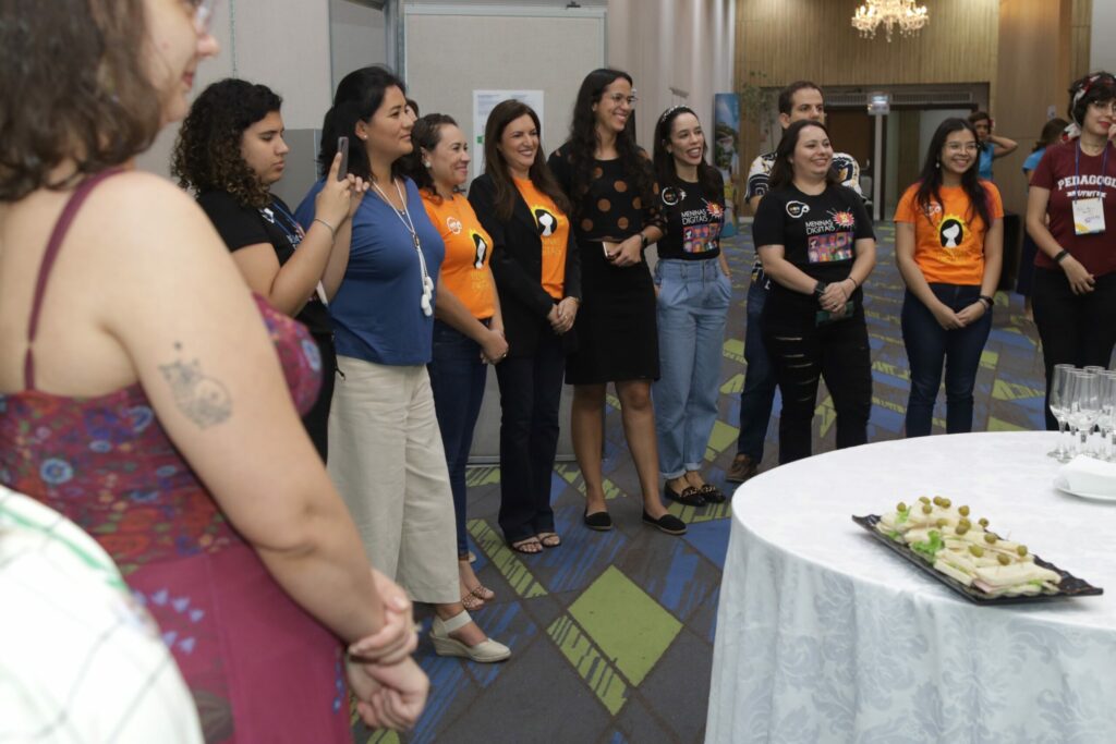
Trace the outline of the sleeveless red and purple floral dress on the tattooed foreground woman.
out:
[[[317,347],[256,300],[305,413],[320,381]],[[225,520],[143,388],[71,398],[30,377],[28,387],[0,395],[0,483],[76,522],[116,561],[158,622],[205,741],[350,742],[340,641]]]

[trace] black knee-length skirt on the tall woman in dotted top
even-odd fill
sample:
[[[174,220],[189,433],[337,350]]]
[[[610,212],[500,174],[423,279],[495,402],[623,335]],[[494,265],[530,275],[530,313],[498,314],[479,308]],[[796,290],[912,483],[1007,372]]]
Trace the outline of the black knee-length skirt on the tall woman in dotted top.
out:
[[[581,247],[577,350],[566,360],[567,385],[658,379],[655,286],[647,262],[618,268],[597,241]]]

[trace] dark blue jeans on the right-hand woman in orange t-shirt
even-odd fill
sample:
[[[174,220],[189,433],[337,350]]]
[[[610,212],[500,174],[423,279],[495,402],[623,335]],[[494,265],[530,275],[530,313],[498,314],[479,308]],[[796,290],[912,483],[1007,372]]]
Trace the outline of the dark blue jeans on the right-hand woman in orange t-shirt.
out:
[[[980,287],[930,286],[934,297],[954,312],[980,297]],[[945,433],[962,434],[973,428],[973,386],[980,355],[992,330],[992,311],[964,328],[945,330],[934,313],[907,290],[903,298],[903,345],[911,363],[911,397],[907,400],[906,435],[930,434],[937,388],[945,366]]]

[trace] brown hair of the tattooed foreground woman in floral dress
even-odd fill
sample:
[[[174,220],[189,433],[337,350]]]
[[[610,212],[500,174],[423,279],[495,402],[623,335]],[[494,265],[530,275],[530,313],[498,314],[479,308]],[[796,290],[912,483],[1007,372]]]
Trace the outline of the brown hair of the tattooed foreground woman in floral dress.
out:
[[[0,201],[122,165],[162,127],[143,0],[0,0]],[[18,102],[18,103],[17,103]],[[73,173],[52,175],[75,162]]]

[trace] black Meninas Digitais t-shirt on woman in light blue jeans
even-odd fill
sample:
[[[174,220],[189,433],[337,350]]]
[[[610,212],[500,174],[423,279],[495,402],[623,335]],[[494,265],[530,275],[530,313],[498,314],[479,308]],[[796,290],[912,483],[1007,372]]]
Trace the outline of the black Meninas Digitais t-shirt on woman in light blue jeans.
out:
[[[666,234],[658,239],[660,259],[703,261],[721,254],[724,228],[724,182],[716,173],[718,185],[704,181],[689,183],[673,178],[663,184],[658,199],[666,218]]]

